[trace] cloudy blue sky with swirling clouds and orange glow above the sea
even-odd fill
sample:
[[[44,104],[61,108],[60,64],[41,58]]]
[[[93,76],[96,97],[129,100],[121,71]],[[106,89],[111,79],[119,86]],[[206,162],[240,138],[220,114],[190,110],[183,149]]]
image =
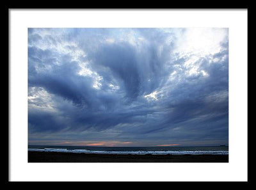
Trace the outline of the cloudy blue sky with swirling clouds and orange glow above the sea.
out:
[[[29,28],[28,143],[228,145],[228,29]]]

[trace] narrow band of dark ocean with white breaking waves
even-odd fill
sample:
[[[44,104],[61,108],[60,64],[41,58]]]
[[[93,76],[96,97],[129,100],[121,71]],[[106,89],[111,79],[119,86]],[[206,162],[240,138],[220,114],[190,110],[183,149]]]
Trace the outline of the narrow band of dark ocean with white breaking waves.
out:
[[[70,152],[84,154],[218,154],[228,155],[228,146],[156,146],[156,147],[120,147],[120,146],[43,146],[29,145],[28,151]]]

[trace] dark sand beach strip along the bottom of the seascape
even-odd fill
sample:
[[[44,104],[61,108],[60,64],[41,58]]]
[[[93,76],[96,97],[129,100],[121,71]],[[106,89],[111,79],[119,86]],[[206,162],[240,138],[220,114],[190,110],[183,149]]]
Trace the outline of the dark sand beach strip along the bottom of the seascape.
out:
[[[124,155],[29,151],[28,162],[228,162],[228,155]]]

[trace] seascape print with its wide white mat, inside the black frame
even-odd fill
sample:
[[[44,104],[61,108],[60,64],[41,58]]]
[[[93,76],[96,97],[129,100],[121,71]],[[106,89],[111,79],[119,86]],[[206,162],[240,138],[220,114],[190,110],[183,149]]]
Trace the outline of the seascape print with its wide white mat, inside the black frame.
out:
[[[247,180],[246,9],[9,12],[11,181]]]

